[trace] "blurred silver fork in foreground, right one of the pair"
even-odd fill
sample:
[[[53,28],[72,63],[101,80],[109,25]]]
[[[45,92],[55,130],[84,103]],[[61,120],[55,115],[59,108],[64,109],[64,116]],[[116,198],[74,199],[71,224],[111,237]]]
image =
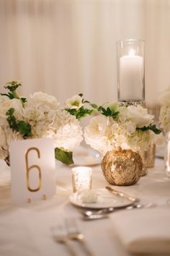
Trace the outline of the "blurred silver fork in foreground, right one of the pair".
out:
[[[79,231],[75,218],[65,219],[66,229],[68,232],[68,239],[74,239],[81,243],[81,247],[86,252],[86,255],[94,256],[89,247],[87,247],[84,235]]]

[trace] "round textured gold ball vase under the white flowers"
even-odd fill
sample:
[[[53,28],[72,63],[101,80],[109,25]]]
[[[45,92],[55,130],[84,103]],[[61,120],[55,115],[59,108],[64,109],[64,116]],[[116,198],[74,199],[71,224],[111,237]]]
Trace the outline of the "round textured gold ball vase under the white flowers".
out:
[[[132,150],[108,151],[102,159],[104,178],[112,185],[133,185],[140,179],[142,170],[142,158]]]

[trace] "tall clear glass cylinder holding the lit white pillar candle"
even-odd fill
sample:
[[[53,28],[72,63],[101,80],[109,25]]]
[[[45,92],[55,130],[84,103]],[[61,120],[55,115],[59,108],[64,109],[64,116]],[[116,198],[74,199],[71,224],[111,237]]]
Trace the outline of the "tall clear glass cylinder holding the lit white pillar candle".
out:
[[[120,102],[145,101],[144,41],[117,42],[117,96]]]

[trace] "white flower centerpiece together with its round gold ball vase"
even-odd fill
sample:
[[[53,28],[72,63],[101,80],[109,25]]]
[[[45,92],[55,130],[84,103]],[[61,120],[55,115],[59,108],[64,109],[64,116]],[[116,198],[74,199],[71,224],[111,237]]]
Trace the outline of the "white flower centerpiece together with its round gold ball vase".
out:
[[[118,103],[99,106],[97,111],[84,129],[86,143],[104,155],[102,171],[109,184],[135,184],[143,176],[138,151],[162,140],[161,130],[153,124],[154,116],[140,105]]]

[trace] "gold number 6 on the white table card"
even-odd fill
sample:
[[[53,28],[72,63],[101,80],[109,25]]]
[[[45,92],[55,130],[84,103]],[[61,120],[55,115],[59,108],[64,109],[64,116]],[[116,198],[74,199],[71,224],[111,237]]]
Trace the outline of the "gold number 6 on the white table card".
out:
[[[29,148],[27,150],[27,152],[25,153],[25,162],[26,162],[26,176],[27,176],[27,189],[30,191],[30,192],[36,192],[38,190],[40,190],[41,188],[41,185],[42,185],[42,177],[41,177],[41,169],[40,169],[40,166],[37,166],[37,165],[32,165],[32,166],[28,166],[28,154],[30,153],[31,150],[35,150],[37,152],[37,157],[40,158],[40,150],[38,148]],[[37,168],[37,171],[38,171],[38,176],[39,176],[39,183],[38,183],[38,186],[37,188],[35,189],[32,189],[30,187],[30,180],[29,180],[29,176],[30,176],[30,170],[32,168]]]

